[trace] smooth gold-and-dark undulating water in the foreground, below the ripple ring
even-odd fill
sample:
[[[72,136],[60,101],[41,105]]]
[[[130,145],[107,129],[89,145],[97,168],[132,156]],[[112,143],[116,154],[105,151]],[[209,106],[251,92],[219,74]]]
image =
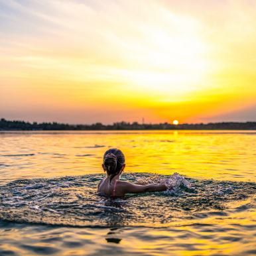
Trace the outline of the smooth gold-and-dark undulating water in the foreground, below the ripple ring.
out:
[[[1,229],[0,238],[1,248],[17,255],[244,255],[255,250],[253,226],[255,222],[114,229],[16,225]]]

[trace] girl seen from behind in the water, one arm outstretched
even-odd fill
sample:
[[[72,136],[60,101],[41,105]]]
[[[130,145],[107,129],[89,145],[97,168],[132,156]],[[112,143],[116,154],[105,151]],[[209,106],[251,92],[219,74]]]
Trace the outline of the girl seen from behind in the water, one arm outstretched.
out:
[[[119,149],[109,149],[105,152],[102,167],[104,172],[107,172],[107,177],[99,182],[97,192],[106,196],[124,196],[127,193],[137,194],[167,190],[165,184],[144,185],[120,181],[119,176],[125,168],[125,156]]]

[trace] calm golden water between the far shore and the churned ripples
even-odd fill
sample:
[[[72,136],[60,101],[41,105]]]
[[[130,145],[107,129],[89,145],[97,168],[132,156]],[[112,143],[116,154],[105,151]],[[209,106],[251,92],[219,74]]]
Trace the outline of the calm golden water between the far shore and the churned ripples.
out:
[[[127,172],[255,180],[256,133],[120,131],[0,133],[9,180],[100,173],[103,153],[125,154]],[[11,170],[11,172],[10,172]]]

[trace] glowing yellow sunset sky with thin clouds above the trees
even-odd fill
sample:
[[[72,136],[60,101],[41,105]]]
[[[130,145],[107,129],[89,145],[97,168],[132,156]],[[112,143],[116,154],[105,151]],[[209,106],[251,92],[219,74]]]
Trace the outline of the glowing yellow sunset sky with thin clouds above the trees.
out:
[[[0,118],[256,121],[254,0],[0,0]]]

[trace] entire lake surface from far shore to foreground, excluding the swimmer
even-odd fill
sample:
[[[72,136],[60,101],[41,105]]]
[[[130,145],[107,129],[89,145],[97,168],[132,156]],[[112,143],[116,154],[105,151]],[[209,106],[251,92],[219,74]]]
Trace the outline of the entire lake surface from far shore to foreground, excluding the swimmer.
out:
[[[104,198],[121,180],[175,192]],[[0,255],[256,255],[256,132],[0,132]]]

